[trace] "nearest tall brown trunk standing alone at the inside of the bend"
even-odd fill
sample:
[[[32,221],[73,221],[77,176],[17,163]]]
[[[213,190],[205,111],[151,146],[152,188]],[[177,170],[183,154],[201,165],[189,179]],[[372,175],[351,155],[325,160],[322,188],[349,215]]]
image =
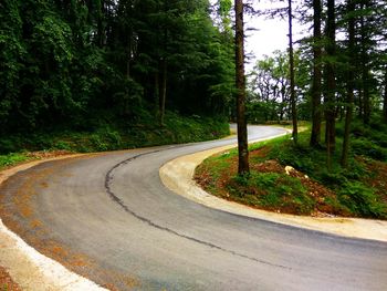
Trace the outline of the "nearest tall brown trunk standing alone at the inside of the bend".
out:
[[[238,124],[238,174],[250,173],[248,126],[245,118],[245,76],[244,76],[244,31],[243,0],[234,1],[236,10],[236,85]]]

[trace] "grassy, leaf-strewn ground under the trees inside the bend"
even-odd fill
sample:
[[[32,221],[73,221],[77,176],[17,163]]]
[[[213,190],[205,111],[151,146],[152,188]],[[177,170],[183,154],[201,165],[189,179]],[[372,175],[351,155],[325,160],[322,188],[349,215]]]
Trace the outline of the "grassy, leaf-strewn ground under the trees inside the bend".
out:
[[[360,126],[355,124],[349,165],[342,168],[341,127],[338,124],[331,172],[326,169],[325,149],[311,148],[310,131],[305,131],[300,133],[297,145],[290,136],[251,145],[249,176],[237,175],[238,153],[232,149],[206,159],[196,178],[213,195],[272,211],[387,219],[386,145],[381,142],[386,139],[370,142],[387,131],[368,127],[360,135]],[[285,166],[293,167],[294,173],[286,175]]]

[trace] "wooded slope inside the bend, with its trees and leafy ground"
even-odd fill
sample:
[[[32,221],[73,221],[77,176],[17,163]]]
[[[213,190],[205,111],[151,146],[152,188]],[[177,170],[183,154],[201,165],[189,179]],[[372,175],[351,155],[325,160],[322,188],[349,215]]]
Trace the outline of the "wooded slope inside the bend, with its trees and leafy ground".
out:
[[[386,4],[283,3],[258,11],[287,19],[289,48],[257,62],[245,106],[249,123],[282,124],[292,137],[251,146],[250,170],[239,175],[234,150],[213,156],[196,179],[213,195],[278,212],[386,219]],[[295,22],[308,28],[297,40]]]

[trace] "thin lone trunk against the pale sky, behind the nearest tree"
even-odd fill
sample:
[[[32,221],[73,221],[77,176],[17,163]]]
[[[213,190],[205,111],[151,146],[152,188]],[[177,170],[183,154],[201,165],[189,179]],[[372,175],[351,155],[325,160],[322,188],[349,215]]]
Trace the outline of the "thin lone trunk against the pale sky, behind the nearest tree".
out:
[[[294,84],[294,52],[293,52],[293,15],[292,15],[292,0],[289,0],[287,8],[289,17],[289,63],[290,63],[290,81],[291,81],[291,103],[292,103],[292,122],[293,122],[293,142],[297,144],[299,128],[297,128],[297,110],[295,100],[295,84]]]

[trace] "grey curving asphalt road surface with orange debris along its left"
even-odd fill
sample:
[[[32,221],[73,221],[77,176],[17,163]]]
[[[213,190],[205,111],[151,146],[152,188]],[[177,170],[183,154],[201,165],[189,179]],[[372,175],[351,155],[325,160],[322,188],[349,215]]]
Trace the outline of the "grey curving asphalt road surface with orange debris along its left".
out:
[[[254,126],[250,138],[281,132]],[[166,162],[230,143],[43,163],[0,189],[4,224],[113,290],[387,290],[385,242],[215,210],[163,186]]]

